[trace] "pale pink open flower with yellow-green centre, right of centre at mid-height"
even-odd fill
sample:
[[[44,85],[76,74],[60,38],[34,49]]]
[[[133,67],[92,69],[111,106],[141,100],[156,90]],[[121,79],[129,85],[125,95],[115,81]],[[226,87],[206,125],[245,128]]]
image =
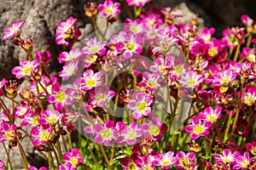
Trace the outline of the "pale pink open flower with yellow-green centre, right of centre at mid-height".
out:
[[[188,71],[185,73],[183,77],[180,79],[180,83],[182,83],[185,88],[198,88],[200,83],[203,82],[204,77],[202,75],[197,75],[195,71]]]

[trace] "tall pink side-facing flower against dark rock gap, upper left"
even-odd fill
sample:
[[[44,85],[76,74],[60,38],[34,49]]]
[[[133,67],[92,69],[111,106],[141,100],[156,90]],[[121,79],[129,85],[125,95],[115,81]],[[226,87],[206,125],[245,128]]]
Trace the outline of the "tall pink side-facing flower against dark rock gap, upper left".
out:
[[[55,42],[60,45],[63,44],[67,47],[72,47],[81,35],[79,29],[74,29],[77,19],[73,16],[69,17],[66,21],[61,22],[56,29]]]

